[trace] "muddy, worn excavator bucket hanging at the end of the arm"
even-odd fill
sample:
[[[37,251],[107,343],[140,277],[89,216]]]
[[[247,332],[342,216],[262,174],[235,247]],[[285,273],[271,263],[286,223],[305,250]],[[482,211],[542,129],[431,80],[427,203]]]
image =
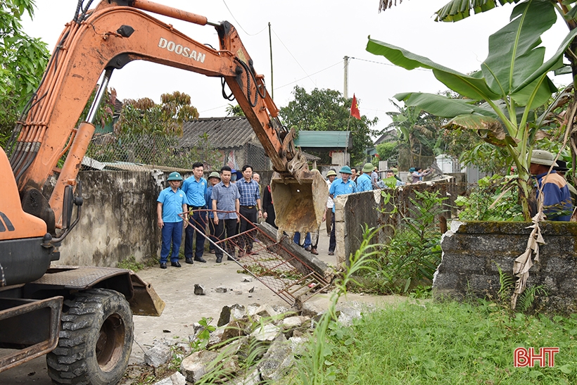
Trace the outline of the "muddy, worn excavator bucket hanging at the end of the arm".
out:
[[[270,189],[278,234],[318,231],[329,197],[329,187],[319,170],[302,171],[298,178],[275,172]]]

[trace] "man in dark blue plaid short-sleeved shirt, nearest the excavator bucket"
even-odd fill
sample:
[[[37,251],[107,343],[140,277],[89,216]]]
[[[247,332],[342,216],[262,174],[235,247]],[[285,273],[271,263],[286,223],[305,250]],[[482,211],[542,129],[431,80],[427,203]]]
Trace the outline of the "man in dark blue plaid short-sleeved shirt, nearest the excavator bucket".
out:
[[[253,251],[253,241],[255,238],[255,223],[258,218],[262,217],[262,207],[260,206],[260,191],[258,189],[258,182],[253,180],[253,166],[243,165],[243,177],[236,180],[236,187],[239,188],[239,199],[241,213],[241,227],[240,233],[247,232],[239,239],[239,258],[244,253],[251,253]],[[258,209],[258,211],[257,211]]]

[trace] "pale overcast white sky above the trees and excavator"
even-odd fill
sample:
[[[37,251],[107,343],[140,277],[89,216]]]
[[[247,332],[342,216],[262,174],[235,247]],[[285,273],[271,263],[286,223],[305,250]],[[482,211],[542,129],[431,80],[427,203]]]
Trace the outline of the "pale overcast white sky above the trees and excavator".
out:
[[[365,51],[367,37],[395,44],[437,63],[461,72],[477,70],[487,56],[488,36],[507,24],[513,9],[507,5],[474,15],[459,23],[435,23],[433,12],[448,0],[405,0],[378,13],[379,0],[156,0],[185,11],[204,15],[211,21],[227,20],[236,27],[252,56],[257,72],[265,75],[271,91],[270,42],[272,25],[272,63],[274,101],[286,106],[293,100],[295,85],[312,89],[336,89],[343,93],[343,57],[349,56],[348,97],[356,94],[362,115],[379,118],[376,128],[395,111],[389,99],[403,91],[437,92],[446,87],[429,70],[407,71],[396,68],[382,56]],[[86,2],[86,1],[85,1]],[[98,1],[94,1],[97,4]],[[58,4],[58,6],[56,6]],[[65,23],[72,20],[76,0],[37,0],[34,20],[25,20],[27,34],[40,37],[52,51]],[[192,25],[157,15],[192,39],[218,47],[214,27]],[[561,23],[543,35],[550,57],[568,32]],[[570,77],[554,77],[556,84]],[[220,80],[163,65],[135,61],[113,73],[110,87],[120,99],[149,97],[160,102],[160,94],[182,91],[191,96],[201,118],[226,115],[230,102],[222,98]]]

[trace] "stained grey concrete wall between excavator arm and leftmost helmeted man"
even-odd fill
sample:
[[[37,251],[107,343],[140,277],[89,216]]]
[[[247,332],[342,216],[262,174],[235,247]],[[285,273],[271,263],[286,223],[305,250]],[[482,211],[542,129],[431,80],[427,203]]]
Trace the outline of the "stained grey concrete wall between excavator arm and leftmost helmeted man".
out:
[[[56,263],[114,267],[131,255],[137,260],[157,255],[156,198],[163,175],[156,177],[158,183],[148,172],[80,172],[82,215]]]

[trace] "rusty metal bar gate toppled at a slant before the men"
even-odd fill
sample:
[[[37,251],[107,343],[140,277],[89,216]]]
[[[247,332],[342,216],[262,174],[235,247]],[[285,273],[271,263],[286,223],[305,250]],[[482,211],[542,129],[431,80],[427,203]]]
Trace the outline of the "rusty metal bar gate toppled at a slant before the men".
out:
[[[206,214],[212,212],[205,209],[194,211]],[[218,211],[218,213],[234,212]],[[184,218],[182,214],[181,216]],[[246,220],[242,215],[240,217]],[[210,219],[207,218],[207,221]],[[223,259],[234,261],[289,305],[294,305],[297,300],[303,303],[331,285],[329,278],[315,270],[304,258],[283,246],[283,240],[288,238],[286,235],[277,241],[263,232],[258,225],[251,226],[251,222],[248,221],[249,229],[245,232],[226,239],[218,239],[214,233],[210,234],[210,226],[206,223],[192,220],[191,215],[187,222],[195,231],[201,232],[210,244],[222,251]],[[199,231],[207,228],[208,234]],[[253,241],[253,246],[251,250],[246,250],[245,245],[250,243],[250,240]]]

